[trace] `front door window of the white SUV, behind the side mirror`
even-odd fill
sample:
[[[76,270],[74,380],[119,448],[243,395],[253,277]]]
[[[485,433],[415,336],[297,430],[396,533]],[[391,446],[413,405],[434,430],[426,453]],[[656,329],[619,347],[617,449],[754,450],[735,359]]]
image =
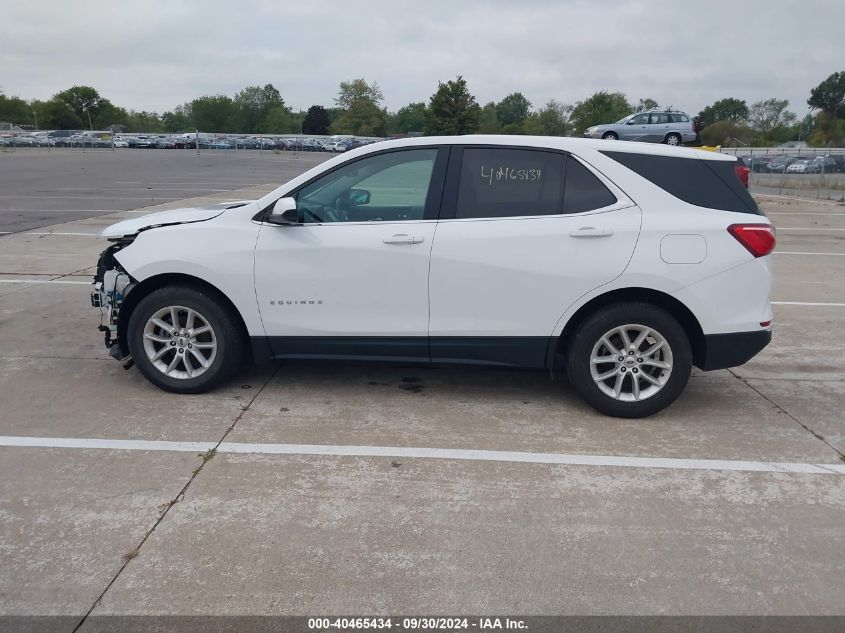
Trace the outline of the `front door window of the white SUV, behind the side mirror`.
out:
[[[437,149],[378,154],[344,165],[296,194],[300,221],[422,220]]]

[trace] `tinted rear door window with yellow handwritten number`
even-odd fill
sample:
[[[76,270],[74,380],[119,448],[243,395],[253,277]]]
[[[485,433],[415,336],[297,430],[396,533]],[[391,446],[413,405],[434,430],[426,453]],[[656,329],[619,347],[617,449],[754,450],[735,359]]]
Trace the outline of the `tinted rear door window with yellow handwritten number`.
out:
[[[563,161],[563,154],[535,150],[464,150],[456,217],[560,213]]]

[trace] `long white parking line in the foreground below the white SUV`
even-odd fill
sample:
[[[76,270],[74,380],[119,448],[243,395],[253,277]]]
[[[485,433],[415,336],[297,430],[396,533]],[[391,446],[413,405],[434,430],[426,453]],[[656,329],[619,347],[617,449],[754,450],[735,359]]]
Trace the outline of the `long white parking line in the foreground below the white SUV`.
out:
[[[169,442],[161,440],[111,440],[69,437],[0,436],[0,446],[36,448],[81,448],[129,451],[175,451],[200,453],[215,442]],[[766,462],[667,457],[628,457],[623,455],[580,455],[571,453],[530,453],[454,448],[414,448],[404,446],[337,446],[331,444],[246,444],[223,442],[219,453],[251,455],[322,455],[330,457],[400,457],[456,459],[465,461],[556,464],[566,466],[610,466],[674,470],[718,470],[728,472],[845,475],[845,464],[805,462]]]

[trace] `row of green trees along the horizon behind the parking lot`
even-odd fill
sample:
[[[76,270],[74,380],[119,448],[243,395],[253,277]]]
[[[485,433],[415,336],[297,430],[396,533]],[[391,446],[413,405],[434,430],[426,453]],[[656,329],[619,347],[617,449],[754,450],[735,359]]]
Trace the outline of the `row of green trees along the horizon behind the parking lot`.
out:
[[[244,134],[534,134],[577,136],[586,128],[612,123],[631,113],[660,107],[651,98],[636,103],[621,92],[599,91],[574,104],[555,99],[539,107],[521,93],[479,104],[466,80],[439,82],[428,102],[409,103],[396,112],[383,106],[375,82],[342,81],[330,106],[293,110],[272,84],[248,86],[235,94],[205,95],[163,112],[114,105],[90,86],[73,86],[47,101],[26,101],[0,91],[0,120],[40,129],[118,129],[128,132],[201,130]],[[811,112],[798,119],[789,101],[776,97],[748,104],[725,97],[696,117],[707,145],[773,145],[806,140],[838,145],[845,138],[845,71],[833,73],[810,91]],[[671,108],[671,106],[668,106]]]

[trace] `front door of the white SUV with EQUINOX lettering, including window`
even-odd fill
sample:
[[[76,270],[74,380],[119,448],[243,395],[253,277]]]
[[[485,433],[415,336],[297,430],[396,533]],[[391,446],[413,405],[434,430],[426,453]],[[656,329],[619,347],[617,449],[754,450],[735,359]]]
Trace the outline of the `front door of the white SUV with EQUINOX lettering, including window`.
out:
[[[277,357],[428,360],[428,267],[447,150],[365,156],[294,192],[264,224],[255,289]]]

